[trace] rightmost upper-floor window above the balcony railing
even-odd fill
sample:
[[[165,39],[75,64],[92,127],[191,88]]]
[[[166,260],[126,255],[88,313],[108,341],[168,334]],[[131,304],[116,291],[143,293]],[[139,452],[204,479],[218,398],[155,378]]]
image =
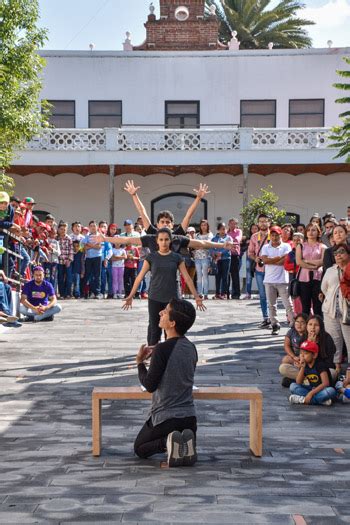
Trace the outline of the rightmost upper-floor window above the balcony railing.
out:
[[[324,99],[289,101],[290,128],[323,128]]]

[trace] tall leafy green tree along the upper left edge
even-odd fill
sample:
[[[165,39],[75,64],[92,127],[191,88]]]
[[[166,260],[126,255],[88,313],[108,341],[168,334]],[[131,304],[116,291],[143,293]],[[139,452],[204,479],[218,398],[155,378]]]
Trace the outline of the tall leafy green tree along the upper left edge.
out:
[[[5,175],[16,150],[46,124],[39,95],[45,65],[38,49],[46,31],[37,27],[37,0],[0,0],[0,188],[11,190]]]

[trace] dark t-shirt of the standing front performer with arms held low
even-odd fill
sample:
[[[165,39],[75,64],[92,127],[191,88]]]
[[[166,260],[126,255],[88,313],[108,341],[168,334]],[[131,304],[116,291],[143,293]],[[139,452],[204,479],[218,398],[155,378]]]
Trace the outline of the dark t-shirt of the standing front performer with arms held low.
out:
[[[182,260],[181,255],[174,252],[168,255],[152,252],[147,255],[146,261],[151,267],[151,283],[148,291],[150,299],[168,303],[174,297],[178,297],[176,275]]]

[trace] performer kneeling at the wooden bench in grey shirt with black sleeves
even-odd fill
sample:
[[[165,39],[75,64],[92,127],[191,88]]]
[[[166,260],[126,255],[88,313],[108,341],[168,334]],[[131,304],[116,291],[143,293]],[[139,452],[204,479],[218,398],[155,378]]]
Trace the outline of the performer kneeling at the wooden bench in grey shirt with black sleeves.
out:
[[[192,391],[198,354],[185,337],[195,319],[189,301],[173,299],[160,312],[159,326],[167,340],[153,349],[142,345],[136,356],[139,380],[153,396],[149,419],[134,443],[135,454],[148,458],[167,451],[169,467],[191,466],[197,460]],[[147,370],[144,361],[150,355]]]

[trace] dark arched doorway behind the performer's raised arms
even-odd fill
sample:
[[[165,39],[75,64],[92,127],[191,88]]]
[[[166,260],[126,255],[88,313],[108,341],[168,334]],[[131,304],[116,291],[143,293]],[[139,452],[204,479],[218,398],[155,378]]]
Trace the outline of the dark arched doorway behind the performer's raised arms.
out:
[[[180,224],[194,199],[195,195],[190,193],[167,193],[166,195],[153,199],[151,202],[152,223],[155,224],[159,212],[169,210],[175,217],[175,224]],[[202,199],[191,219],[191,225],[198,226],[200,220],[206,218],[207,201]]]

